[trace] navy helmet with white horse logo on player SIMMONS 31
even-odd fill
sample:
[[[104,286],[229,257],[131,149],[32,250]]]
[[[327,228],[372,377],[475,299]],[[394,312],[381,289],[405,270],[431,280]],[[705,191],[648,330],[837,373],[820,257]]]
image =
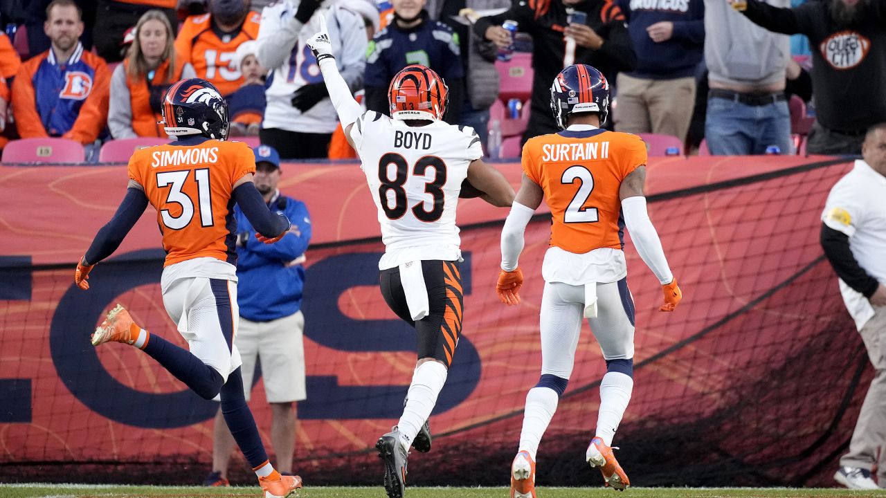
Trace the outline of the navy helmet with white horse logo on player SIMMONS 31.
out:
[[[163,96],[164,129],[169,136],[228,137],[228,103],[214,85],[200,78],[174,83]]]

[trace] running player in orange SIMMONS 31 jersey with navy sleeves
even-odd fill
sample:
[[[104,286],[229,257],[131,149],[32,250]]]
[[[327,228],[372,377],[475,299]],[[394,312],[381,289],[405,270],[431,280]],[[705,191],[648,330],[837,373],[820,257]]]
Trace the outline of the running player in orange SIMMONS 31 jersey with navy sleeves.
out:
[[[74,283],[89,289],[89,271],[110,256],[150,203],[167,252],[160,278],[163,304],[190,351],[150,334],[120,305],[92,334],[92,345],[115,341],[136,346],[206,400],[221,395],[231,434],[259,478],[265,498],[289,496],[298,476],[281,476],[246,406],[237,335],[237,223],[234,201],[258,232],[274,243],[290,230],[285,216],[271,214],[253,184],[255,157],[241,142],[225,142],[228,105],[210,82],[176,82],[162,103],[167,135],[178,140],[136,151],[129,160],[126,197],[98,231],[77,264]]]

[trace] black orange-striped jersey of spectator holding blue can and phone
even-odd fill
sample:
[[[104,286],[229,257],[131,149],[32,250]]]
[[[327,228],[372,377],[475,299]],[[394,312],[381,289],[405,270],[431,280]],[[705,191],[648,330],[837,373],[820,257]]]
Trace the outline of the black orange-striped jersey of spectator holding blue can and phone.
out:
[[[521,32],[532,35],[532,113],[525,137],[556,133],[550,112],[550,86],[563,67],[571,64],[594,66],[610,82],[619,71],[629,71],[636,64],[631,38],[627,33],[625,15],[612,0],[587,0],[576,5],[576,11],[587,13],[587,26],[600,35],[600,50],[576,47],[567,53],[563,27],[568,25],[566,7],[558,0],[520,0],[501,14],[479,19],[474,33],[484,36],[486,28],[501,26],[507,19],[516,20]],[[571,61],[570,61],[571,59]],[[568,63],[568,64],[567,64]]]

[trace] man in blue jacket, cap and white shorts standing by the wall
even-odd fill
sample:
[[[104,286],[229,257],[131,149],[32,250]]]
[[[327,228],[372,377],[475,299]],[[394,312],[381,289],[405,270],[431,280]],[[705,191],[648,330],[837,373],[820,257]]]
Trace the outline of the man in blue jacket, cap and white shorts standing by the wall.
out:
[[[262,244],[240,206],[237,219],[237,304],[240,320],[237,349],[243,359],[243,385],[246,401],[253,386],[256,360],[261,360],[265,396],[271,405],[271,444],[276,453],[276,469],[292,471],[295,453],[295,402],[304,400],[305,347],[302,331],[301,289],[305,281],[305,250],[311,241],[311,219],[305,204],[277,190],[280,181],[280,155],[273,147],[260,145],[255,153],[253,182],[272,212],[286,214],[292,228],[277,241],[276,247]],[[234,439],[227,430],[221,411],[215,417],[213,471],[206,486],[228,486],[228,463]]]

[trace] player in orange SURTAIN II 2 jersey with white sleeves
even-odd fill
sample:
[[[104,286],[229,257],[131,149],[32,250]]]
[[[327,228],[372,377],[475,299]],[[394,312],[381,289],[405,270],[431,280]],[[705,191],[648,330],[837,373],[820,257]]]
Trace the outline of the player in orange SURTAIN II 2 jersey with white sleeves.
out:
[[[630,486],[610,446],[633,390],[633,298],[626,281],[625,225],[663,286],[660,310],[673,311],[681,299],[643,197],[646,145],[638,136],[600,128],[609,113],[606,78],[591,66],[566,67],[551,86],[551,111],[562,131],[526,142],[523,182],[501,232],[496,292],[505,304],[516,305],[523,284],[517,258],[524,231],[546,198],[553,222],[541,268],[541,378],[526,394],[520,446],[511,464],[511,498],[535,498],[535,453],[566,390],[583,318],[606,360],[587,463],[600,468],[606,486]]]

